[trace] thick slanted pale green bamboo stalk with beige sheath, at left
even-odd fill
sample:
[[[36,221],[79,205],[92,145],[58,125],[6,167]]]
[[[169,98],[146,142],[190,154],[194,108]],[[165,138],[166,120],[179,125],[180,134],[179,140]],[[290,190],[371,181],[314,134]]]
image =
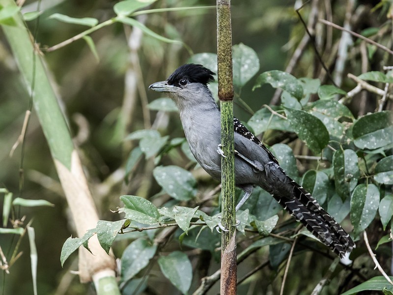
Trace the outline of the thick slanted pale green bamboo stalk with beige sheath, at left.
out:
[[[0,11],[2,9],[17,11],[17,6],[13,0],[0,0]],[[24,78],[26,88],[32,94],[33,106],[48,141],[78,236],[83,236],[88,229],[95,228],[98,214],[87,186],[80,158],[48,79],[42,53],[33,44],[33,38],[20,12],[10,16],[9,20],[2,21],[0,25]],[[79,251],[81,281],[91,281],[93,276],[105,279],[105,284],[110,281],[111,288],[106,287],[106,290],[110,289],[111,292],[100,292],[103,284],[101,280],[95,279],[97,292],[100,292],[98,294],[119,295],[113,257],[106,254],[96,238],[90,239],[89,247],[94,255],[84,248]]]

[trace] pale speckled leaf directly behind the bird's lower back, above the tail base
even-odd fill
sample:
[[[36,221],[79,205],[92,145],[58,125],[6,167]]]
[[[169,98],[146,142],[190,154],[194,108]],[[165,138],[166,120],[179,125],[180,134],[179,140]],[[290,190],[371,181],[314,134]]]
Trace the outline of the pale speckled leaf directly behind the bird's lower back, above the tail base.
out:
[[[270,150],[276,156],[281,168],[286,172],[286,174],[295,181],[298,181],[299,172],[292,148],[284,144],[275,144],[270,148]]]

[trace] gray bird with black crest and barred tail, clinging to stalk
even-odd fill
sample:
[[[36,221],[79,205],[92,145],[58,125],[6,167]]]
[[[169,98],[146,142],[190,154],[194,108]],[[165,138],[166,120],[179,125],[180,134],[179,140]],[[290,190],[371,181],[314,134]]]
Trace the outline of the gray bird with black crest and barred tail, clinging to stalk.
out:
[[[165,92],[173,99],[191,152],[210,176],[221,180],[220,109],[207,87],[214,81],[213,75],[200,64],[184,64],[167,81],[154,83],[149,89]],[[253,188],[260,186],[334,253],[343,257],[351,252],[355,248],[352,238],[307,190],[286,175],[269,149],[237,118],[233,118],[233,127],[235,182],[245,191],[236,210]]]

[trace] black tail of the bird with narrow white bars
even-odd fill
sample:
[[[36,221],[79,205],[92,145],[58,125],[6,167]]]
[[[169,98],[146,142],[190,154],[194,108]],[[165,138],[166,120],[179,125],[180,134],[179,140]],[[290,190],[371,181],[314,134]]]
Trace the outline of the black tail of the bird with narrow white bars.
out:
[[[345,253],[351,252],[356,247],[355,243],[336,220],[296,181],[290,179],[289,185],[292,193],[275,194],[276,201],[338,256],[342,258]]]

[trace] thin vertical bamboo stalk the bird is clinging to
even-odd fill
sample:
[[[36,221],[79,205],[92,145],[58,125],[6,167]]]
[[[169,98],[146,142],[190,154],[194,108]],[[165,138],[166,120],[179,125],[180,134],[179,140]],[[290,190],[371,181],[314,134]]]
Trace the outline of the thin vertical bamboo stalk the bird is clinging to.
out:
[[[230,0],[217,0],[218,95],[221,108],[222,167],[221,294],[236,294],[235,165],[233,132],[232,30]]]

